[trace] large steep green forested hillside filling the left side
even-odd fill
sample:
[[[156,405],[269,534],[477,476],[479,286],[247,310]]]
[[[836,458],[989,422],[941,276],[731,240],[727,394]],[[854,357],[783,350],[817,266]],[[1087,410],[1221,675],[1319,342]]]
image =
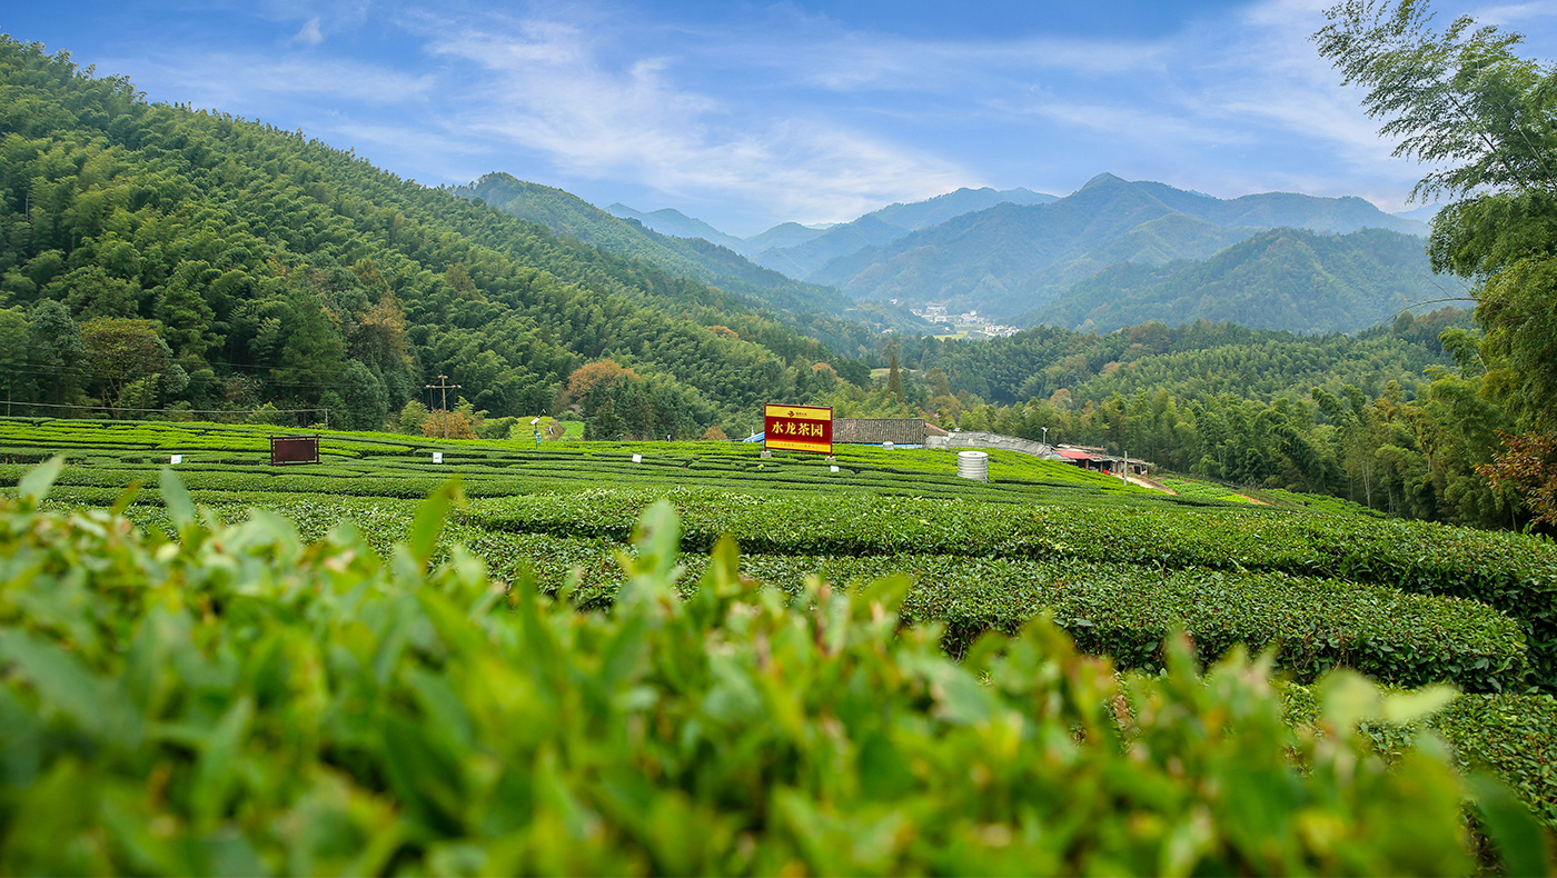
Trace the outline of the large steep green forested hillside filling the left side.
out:
[[[0,149],[14,400],[329,406],[367,428],[439,374],[494,416],[550,411],[609,356],[634,423],[685,436],[863,372],[733,293],[11,37]]]

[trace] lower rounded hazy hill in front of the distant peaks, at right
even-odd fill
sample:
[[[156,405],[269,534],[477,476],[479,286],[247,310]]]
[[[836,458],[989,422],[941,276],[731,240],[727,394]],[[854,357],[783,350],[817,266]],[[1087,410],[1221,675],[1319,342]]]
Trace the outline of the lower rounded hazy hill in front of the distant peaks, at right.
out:
[[[1432,276],[1422,238],[1384,229],[1322,235],[1272,229],[1204,262],[1121,263],[1023,318],[1109,332],[1196,319],[1292,332],[1358,332],[1401,310],[1456,296]]]

